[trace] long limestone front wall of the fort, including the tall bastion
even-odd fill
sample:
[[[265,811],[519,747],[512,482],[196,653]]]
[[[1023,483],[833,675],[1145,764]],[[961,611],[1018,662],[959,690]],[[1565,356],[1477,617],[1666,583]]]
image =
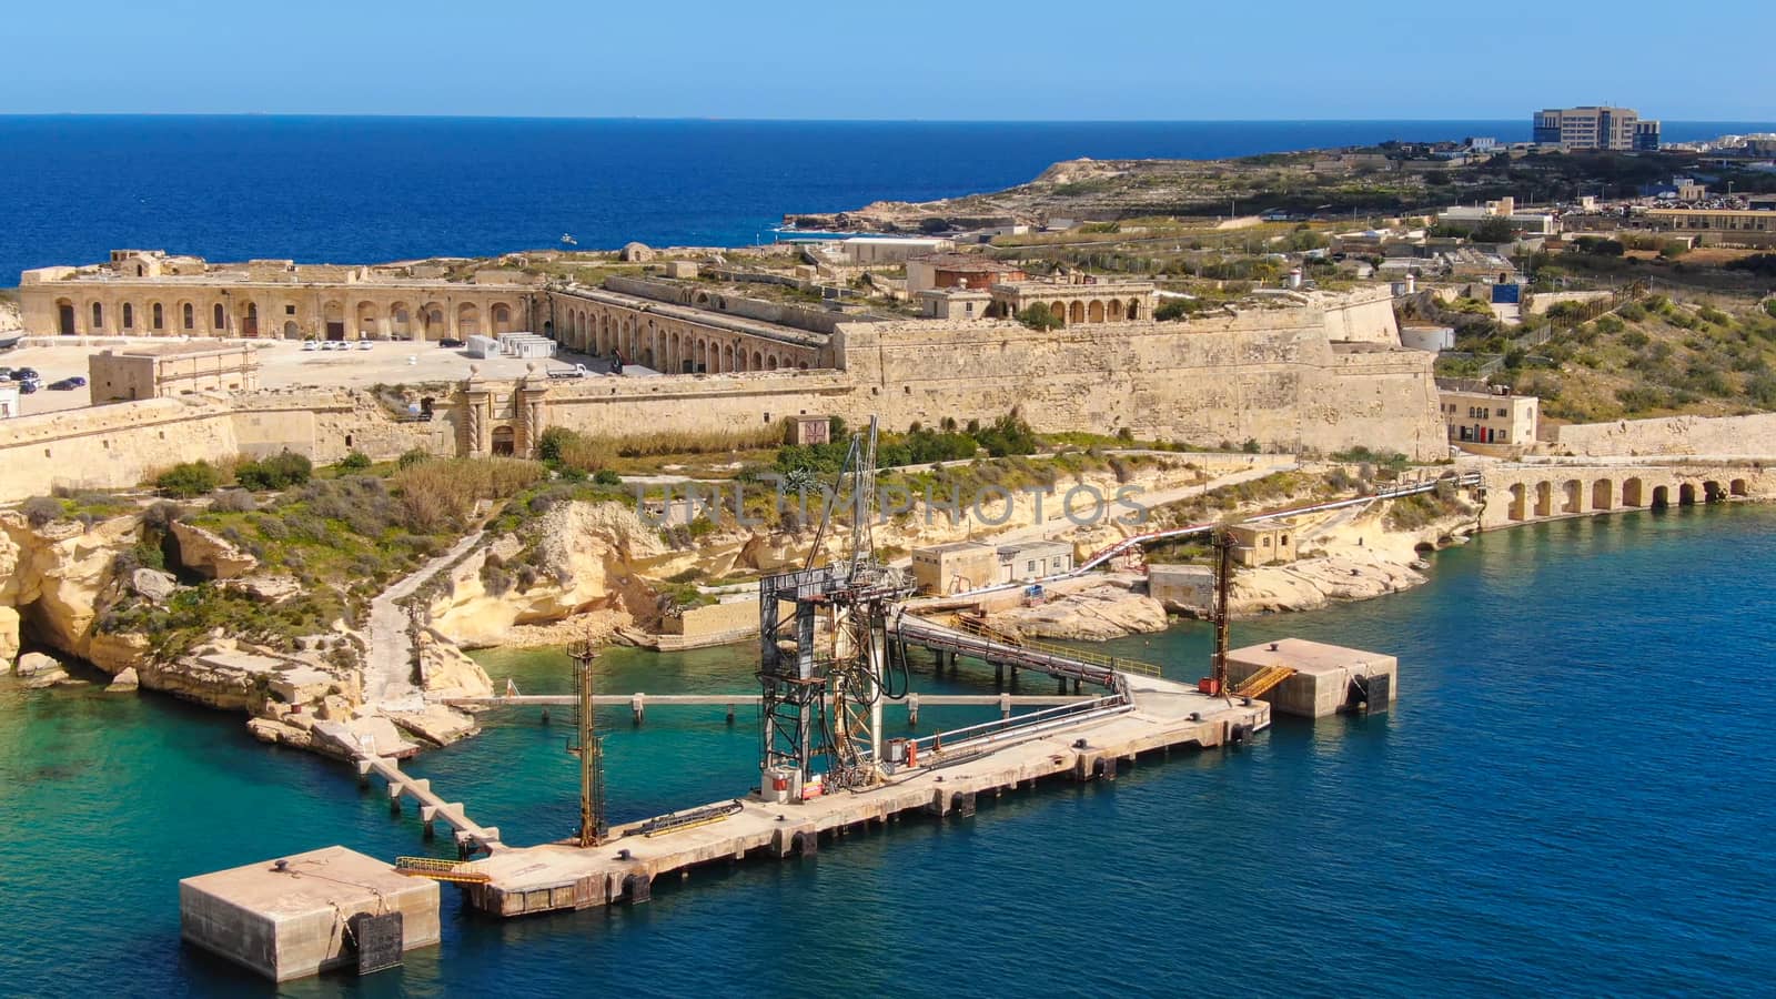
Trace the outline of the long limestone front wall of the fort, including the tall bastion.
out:
[[[1415,459],[1442,457],[1447,446],[1431,356],[1334,350],[1318,309],[1051,332],[1014,322],[845,324],[835,348],[845,370],[549,384],[535,430],[559,425],[616,437],[730,432],[803,414],[852,423],[879,414],[899,430],[947,416],[991,421],[1018,409],[1050,432],[1114,434],[1126,427],[1137,437],[1167,441],[1256,439],[1321,452],[1364,444]],[[517,384],[487,388],[494,400],[485,430],[515,427]],[[321,464],[353,450],[378,460],[412,448],[455,455],[467,439],[458,428],[465,418],[458,402],[440,398],[432,421],[401,421],[368,393],[286,389],[9,420],[0,428],[0,501],[55,485],[130,487],[181,460],[284,448]],[[1760,434],[1776,453],[1776,416],[1765,420]],[[1732,436],[1746,439],[1742,430]]]

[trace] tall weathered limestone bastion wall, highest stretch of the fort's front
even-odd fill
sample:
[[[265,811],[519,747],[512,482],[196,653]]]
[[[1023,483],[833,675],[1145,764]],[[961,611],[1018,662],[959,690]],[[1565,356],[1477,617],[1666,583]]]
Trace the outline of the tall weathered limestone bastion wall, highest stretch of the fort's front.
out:
[[[1430,356],[1336,354],[1314,309],[1051,332],[870,324],[842,327],[842,338],[852,405],[890,427],[1018,407],[1037,430],[1128,427],[1154,439],[1366,444],[1426,459],[1446,448]]]

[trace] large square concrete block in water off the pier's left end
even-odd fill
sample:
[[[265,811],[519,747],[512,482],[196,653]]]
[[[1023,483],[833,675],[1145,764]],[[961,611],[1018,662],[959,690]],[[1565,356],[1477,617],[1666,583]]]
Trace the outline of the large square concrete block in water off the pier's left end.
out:
[[[371,949],[400,962],[439,942],[439,885],[327,846],[185,878],[179,935],[274,981],[359,967]]]

